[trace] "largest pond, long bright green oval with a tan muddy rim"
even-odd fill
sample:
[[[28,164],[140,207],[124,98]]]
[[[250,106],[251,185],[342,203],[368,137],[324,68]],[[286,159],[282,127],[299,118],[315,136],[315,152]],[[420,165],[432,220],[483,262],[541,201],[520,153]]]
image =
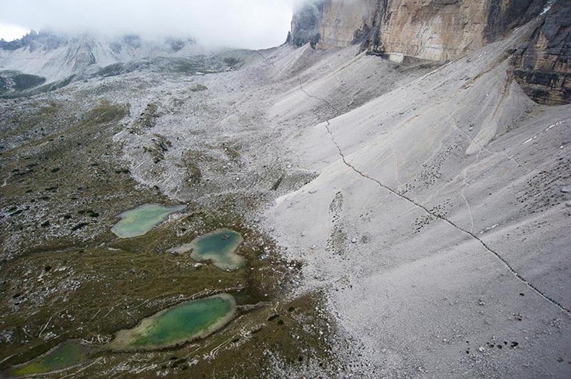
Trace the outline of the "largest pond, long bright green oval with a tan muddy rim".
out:
[[[235,311],[236,301],[228,294],[188,301],[143,319],[133,329],[118,332],[111,348],[148,350],[204,338],[231,321]]]

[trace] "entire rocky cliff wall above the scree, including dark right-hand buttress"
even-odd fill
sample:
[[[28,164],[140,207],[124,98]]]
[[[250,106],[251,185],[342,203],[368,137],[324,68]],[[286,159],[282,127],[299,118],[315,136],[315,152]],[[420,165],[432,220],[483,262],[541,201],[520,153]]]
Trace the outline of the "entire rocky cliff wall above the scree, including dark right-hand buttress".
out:
[[[532,41],[515,52],[513,74],[538,103],[571,103],[570,0],[313,0],[295,12],[290,41],[402,62],[448,61],[540,16]]]

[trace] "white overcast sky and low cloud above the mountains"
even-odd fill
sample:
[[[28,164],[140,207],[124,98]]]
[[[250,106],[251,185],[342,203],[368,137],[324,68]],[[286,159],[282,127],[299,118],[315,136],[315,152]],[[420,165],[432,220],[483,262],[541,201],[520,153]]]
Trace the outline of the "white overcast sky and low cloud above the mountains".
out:
[[[303,0],[0,0],[0,38],[36,31],[191,36],[214,47],[265,48],[285,41]]]

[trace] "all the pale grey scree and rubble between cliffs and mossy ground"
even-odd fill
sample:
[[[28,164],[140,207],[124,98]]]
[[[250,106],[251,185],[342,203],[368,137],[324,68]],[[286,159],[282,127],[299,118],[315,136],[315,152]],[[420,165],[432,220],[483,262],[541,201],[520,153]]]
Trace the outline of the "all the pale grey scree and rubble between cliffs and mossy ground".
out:
[[[509,51],[530,30],[442,65],[281,46],[237,71],[92,78],[2,100],[1,113],[54,104],[76,121],[98,104],[124,105],[108,146],[90,148],[128,167],[128,188],[198,209],[239,197],[248,224],[303,261],[288,297],[325,294],[335,324],[334,370],[270,350],[268,376],[565,378],[571,107],[537,105],[513,81]],[[3,167],[50,143],[2,128]],[[2,174],[6,191],[17,172]],[[98,244],[136,202],[101,205],[98,223],[69,232],[51,214],[88,200],[14,214],[15,196],[1,202],[8,267],[46,242]]]

